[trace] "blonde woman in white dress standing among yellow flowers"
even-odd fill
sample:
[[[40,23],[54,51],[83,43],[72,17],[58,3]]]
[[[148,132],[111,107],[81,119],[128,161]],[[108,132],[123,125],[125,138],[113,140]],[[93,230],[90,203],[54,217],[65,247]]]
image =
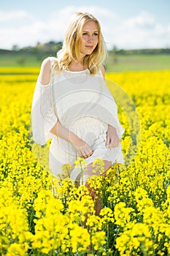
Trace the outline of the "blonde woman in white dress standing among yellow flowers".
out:
[[[115,162],[123,163],[123,127],[104,83],[104,46],[98,20],[75,13],[57,58],[42,62],[31,110],[36,143],[53,139],[49,155],[53,174],[62,174],[62,165],[69,163],[70,176],[76,180],[79,170],[74,161],[83,157],[87,168],[82,181],[87,186],[96,158],[104,159],[104,175]]]

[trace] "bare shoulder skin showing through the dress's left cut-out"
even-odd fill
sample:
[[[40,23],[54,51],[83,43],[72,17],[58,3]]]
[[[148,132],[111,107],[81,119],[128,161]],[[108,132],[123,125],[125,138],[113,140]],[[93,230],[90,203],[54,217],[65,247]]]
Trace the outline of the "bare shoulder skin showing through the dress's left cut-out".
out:
[[[50,74],[51,74],[51,61],[50,57],[42,61],[42,67],[39,72],[39,81],[42,85],[47,85],[50,83]]]

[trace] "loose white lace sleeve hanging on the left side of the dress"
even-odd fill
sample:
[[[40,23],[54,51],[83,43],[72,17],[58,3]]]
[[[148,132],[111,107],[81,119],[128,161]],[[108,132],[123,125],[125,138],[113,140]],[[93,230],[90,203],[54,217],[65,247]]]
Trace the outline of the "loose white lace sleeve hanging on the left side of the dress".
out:
[[[58,117],[53,108],[52,86],[52,75],[47,85],[42,85],[38,78],[32,101],[31,121],[33,140],[42,146],[47,143],[47,140],[55,137],[55,135],[50,132],[50,129],[52,129],[58,121]]]

